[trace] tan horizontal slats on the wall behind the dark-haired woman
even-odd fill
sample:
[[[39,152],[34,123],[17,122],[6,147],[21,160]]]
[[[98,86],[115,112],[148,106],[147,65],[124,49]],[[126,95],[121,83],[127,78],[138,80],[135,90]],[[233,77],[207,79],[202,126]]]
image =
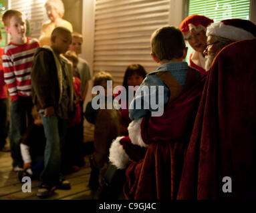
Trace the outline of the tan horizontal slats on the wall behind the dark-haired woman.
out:
[[[122,85],[126,67],[139,63],[149,73],[157,64],[150,57],[150,37],[168,25],[169,0],[96,0],[94,75],[112,74]]]

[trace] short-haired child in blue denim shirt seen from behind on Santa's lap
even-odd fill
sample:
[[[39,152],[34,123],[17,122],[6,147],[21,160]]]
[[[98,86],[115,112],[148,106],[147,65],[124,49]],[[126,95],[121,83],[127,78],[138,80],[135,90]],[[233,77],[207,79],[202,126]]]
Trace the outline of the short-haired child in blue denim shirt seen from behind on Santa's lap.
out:
[[[151,57],[160,67],[146,75],[136,91],[129,107],[131,120],[139,120],[147,115],[162,116],[164,107],[194,82],[190,81],[190,77],[193,80],[200,79],[199,71],[189,68],[184,61],[187,49],[182,32],[176,27],[160,27],[152,33]],[[163,87],[162,93],[160,87]],[[152,107],[152,100],[158,103],[159,108]],[[140,107],[138,103],[141,104]]]

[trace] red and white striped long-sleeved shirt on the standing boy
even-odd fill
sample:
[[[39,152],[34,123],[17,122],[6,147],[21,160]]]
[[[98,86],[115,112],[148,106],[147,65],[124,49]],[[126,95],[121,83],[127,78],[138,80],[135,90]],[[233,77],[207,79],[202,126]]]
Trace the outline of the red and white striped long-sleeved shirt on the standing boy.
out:
[[[9,43],[3,51],[3,72],[11,97],[31,97],[31,66],[33,55],[39,47],[37,39],[27,38],[27,43]]]

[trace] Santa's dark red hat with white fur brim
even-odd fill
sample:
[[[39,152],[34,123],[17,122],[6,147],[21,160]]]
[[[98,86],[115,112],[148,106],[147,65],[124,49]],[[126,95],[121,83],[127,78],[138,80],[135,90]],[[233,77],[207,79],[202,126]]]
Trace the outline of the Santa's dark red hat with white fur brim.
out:
[[[215,35],[232,41],[255,39],[256,25],[248,20],[227,19],[217,23],[212,23],[207,27],[206,35]]]

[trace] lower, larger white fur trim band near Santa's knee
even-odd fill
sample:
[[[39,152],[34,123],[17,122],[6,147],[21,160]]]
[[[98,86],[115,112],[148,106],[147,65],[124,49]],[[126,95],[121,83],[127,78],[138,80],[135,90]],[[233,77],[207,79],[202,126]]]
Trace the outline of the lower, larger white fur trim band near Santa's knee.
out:
[[[124,138],[124,136],[117,137],[113,140],[110,146],[110,162],[114,164],[117,168],[123,169],[131,162],[128,154],[126,154],[123,146],[120,144],[120,140]]]

